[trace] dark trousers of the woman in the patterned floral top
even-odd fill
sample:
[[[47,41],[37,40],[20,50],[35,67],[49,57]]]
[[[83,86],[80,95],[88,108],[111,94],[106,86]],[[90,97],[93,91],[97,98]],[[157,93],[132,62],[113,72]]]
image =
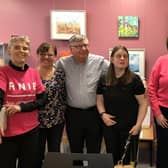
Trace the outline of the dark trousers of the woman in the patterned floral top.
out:
[[[48,152],[60,152],[60,144],[64,129],[64,123],[57,124],[51,128],[39,129],[40,163],[42,165],[45,155],[45,146],[47,143]]]

